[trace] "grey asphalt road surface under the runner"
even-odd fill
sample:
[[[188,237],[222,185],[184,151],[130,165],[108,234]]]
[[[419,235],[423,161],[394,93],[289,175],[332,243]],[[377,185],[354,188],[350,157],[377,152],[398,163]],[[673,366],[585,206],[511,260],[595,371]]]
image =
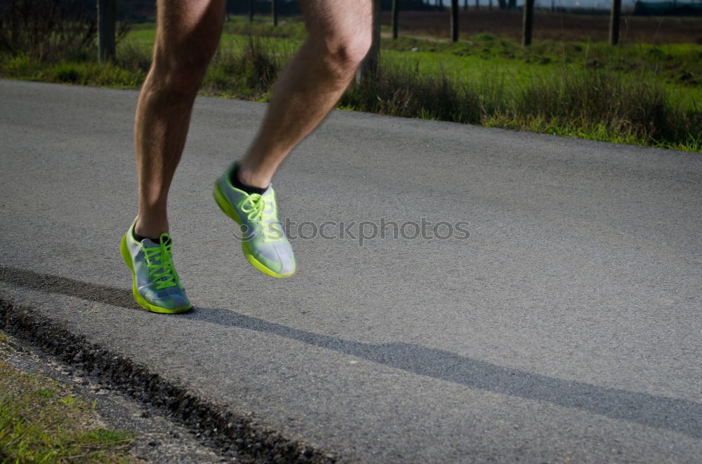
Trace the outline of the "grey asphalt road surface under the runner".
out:
[[[273,279],[211,198],[265,105],[199,98],[170,199],[195,308],[157,315],[119,257],[136,97],[0,81],[3,298],[348,460],[699,462],[701,155],[336,111],[274,182],[293,230],[336,222]],[[470,236],[348,228],[381,219]]]

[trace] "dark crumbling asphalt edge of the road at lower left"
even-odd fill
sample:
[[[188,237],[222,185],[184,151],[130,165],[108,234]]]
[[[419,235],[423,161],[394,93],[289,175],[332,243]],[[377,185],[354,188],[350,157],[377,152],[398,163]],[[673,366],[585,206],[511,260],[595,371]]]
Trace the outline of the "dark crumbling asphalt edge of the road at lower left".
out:
[[[0,329],[159,409],[196,437],[211,440],[223,456],[231,456],[230,451],[234,451],[262,463],[347,462],[336,453],[285,437],[257,423],[253,416],[234,413],[223,404],[199,397],[144,365],[70,332],[32,308],[15,304],[4,292],[0,292]]]

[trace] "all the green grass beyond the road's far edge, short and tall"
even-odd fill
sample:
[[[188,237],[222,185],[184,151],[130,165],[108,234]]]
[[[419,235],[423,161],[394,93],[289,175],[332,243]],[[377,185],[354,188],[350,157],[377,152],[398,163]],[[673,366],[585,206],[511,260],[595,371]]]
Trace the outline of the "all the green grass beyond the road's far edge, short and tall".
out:
[[[305,37],[300,20],[225,25],[201,93],[265,102]],[[117,60],[40,63],[0,55],[15,79],[137,88],[150,64],[154,26],[136,25]],[[341,109],[546,132],[615,143],[701,151],[702,45],[544,39],[523,48],[489,33],[458,43],[383,39],[378,79],[352,85]]]

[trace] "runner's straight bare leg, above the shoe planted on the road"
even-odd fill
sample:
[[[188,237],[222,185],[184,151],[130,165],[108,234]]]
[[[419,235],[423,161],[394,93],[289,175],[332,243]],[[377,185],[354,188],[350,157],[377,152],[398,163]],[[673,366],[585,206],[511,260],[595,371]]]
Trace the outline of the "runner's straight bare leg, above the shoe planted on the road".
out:
[[[151,69],[134,125],[139,187],[135,232],[168,232],[166,200],[192,104],[220,39],[225,0],[159,0]]]

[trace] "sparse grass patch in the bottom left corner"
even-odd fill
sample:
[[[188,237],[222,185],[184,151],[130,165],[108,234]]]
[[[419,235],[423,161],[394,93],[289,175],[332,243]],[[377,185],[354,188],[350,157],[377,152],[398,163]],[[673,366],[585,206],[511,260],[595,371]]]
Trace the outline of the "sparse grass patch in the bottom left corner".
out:
[[[0,332],[0,354],[6,336]],[[69,385],[0,359],[0,463],[133,463],[134,435],[102,428],[93,402]]]

